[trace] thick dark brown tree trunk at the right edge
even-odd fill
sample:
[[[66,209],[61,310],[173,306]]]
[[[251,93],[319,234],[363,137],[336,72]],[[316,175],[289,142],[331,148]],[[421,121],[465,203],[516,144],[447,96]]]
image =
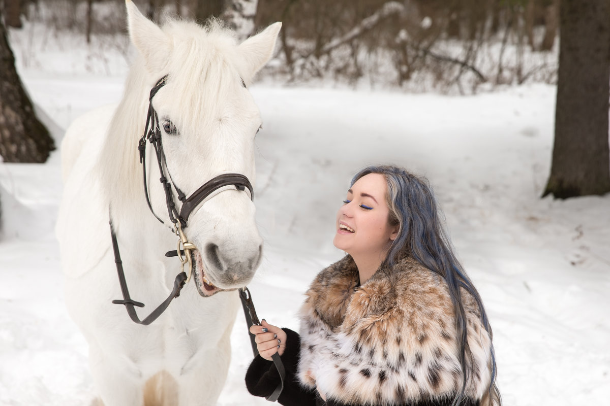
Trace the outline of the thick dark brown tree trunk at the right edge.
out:
[[[610,0],[562,0],[551,175],[544,195],[610,191]]]

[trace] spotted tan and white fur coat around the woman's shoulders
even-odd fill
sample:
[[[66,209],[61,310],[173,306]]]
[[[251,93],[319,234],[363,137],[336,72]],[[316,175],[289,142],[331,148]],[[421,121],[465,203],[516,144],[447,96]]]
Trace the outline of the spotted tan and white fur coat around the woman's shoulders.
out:
[[[300,311],[298,379],[340,404],[444,403],[462,386],[447,284],[412,258],[357,287],[351,256],[321,271]],[[473,354],[466,396],[478,404],[490,384],[490,337],[462,289]]]

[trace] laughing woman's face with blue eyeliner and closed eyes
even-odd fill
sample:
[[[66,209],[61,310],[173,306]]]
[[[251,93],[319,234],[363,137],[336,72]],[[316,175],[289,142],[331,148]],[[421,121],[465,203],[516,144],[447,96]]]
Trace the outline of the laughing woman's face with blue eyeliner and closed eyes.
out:
[[[353,184],[337,212],[335,247],[353,257],[386,257],[398,231],[388,223],[386,194],[386,178],[380,173],[369,173]]]

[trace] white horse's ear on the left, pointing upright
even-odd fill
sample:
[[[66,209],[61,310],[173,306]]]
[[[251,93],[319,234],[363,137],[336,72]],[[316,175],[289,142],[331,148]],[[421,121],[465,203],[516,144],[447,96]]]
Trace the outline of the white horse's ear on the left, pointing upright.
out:
[[[146,69],[151,74],[160,74],[167,65],[171,52],[170,38],[148,18],[140,13],[131,0],[125,0],[129,37],[144,57]]]

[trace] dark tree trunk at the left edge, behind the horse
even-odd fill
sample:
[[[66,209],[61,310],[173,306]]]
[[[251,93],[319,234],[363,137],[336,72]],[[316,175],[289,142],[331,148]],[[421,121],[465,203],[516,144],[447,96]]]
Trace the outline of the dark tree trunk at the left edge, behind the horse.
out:
[[[42,163],[54,149],[15,69],[0,9],[0,156],[4,162]]]

